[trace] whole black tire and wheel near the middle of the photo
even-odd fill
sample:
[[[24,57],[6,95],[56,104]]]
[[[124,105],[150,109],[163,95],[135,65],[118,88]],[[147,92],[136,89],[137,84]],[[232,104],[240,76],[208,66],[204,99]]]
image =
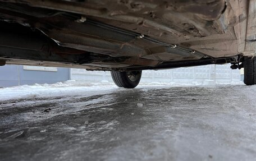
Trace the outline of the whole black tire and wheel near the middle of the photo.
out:
[[[111,76],[113,81],[118,87],[123,88],[135,88],[141,78],[142,71],[132,71],[132,72],[117,72],[117,71],[111,71]],[[129,78],[133,76],[132,79]]]

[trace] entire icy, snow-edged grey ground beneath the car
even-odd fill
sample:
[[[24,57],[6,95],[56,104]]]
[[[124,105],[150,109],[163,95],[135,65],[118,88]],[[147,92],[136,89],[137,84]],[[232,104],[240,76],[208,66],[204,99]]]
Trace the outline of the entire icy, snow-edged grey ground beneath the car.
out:
[[[75,81],[2,88],[0,160],[255,160],[255,93]]]

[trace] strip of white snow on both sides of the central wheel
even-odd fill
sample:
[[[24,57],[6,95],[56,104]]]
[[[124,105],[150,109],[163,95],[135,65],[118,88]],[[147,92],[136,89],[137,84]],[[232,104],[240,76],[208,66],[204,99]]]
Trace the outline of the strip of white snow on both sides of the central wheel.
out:
[[[237,84],[237,82],[231,82]],[[241,84],[241,83],[240,83]],[[158,86],[198,86],[197,82],[177,84],[175,82],[161,83],[143,83],[139,84],[137,88],[157,88]],[[214,85],[213,83],[210,84]],[[208,85],[209,86],[209,85]],[[111,82],[85,82],[85,81],[66,81],[57,82],[56,84],[34,84],[34,85],[21,85],[10,88],[0,89],[0,101],[20,98],[36,98],[45,96],[72,96],[72,95],[97,95],[107,94],[109,91],[120,90]]]

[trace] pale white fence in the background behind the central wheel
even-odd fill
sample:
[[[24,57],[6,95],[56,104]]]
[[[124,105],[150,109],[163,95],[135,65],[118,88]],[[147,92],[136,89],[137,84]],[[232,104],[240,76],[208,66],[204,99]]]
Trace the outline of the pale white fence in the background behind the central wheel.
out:
[[[110,72],[86,71],[71,68],[71,80],[112,81]],[[230,84],[240,82],[239,70],[231,70],[230,65],[207,65],[175,68],[172,70],[143,71],[140,82],[162,82],[176,84]]]

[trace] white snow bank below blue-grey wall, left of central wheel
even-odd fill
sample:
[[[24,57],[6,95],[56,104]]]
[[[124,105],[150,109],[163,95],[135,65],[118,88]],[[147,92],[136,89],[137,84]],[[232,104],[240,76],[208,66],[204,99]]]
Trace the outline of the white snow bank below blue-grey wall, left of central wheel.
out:
[[[93,95],[108,93],[117,89],[113,84],[90,84],[76,82],[57,82],[56,84],[21,85],[0,89],[0,100],[36,98],[38,96]]]

